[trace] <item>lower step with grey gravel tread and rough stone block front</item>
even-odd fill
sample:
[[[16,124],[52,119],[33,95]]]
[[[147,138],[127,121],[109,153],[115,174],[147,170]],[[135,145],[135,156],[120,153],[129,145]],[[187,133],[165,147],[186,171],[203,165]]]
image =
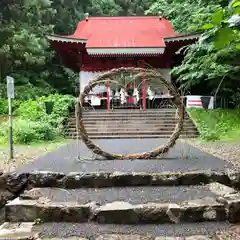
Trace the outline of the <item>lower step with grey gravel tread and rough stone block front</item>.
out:
[[[39,184],[46,181],[36,178],[37,175],[32,175],[32,178],[34,176]],[[73,181],[78,181],[76,175],[72,177]],[[30,182],[33,179],[30,178]],[[168,188],[33,188],[5,205],[5,221],[34,222],[40,219],[42,222],[125,225],[204,221],[236,223],[240,221],[239,196],[235,189],[220,183]]]

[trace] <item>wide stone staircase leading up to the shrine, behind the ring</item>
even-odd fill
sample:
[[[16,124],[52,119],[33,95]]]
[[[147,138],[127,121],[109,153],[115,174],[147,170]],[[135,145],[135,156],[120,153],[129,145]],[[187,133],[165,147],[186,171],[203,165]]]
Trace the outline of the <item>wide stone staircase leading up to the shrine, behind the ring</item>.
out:
[[[168,138],[175,125],[175,109],[86,111],[83,121],[91,139]],[[68,138],[77,138],[76,119],[71,114],[65,127]],[[196,138],[198,131],[188,114],[181,138]]]

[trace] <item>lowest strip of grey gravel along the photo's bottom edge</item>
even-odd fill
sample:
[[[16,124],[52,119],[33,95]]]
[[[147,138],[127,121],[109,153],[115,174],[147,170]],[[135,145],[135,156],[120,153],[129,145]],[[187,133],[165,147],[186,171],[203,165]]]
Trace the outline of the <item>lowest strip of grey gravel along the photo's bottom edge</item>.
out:
[[[157,236],[191,236],[213,235],[218,231],[228,230],[229,224],[225,222],[205,222],[187,224],[146,224],[146,225],[112,225],[93,223],[45,223],[40,225],[42,237],[59,237],[65,239],[71,236],[81,236],[93,239],[101,234],[129,234]],[[238,240],[227,238],[224,240]]]

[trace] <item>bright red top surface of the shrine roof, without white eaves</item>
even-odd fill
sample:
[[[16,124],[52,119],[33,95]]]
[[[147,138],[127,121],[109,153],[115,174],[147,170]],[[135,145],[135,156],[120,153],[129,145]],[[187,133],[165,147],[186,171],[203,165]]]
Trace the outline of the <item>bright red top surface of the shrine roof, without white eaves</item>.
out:
[[[68,37],[86,40],[86,48],[152,48],[165,47],[164,38],[176,36],[164,18],[89,17]]]

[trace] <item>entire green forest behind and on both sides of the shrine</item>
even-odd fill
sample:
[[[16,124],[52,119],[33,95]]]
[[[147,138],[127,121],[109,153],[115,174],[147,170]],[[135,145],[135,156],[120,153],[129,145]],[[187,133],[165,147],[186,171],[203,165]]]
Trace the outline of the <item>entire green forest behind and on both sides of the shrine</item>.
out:
[[[239,7],[234,1],[234,7]],[[231,5],[232,7],[232,5]],[[185,58],[172,75],[185,91],[218,95],[240,104],[240,54],[226,47],[230,28],[214,48],[211,31],[229,14],[226,0],[1,0],[0,97],[6,98],[6,75],[15,78],[16,99],[60,93],[75,95],[78,74],[63,66],[50,48],[48,34],[72,34],[90,16],[161,15],[178,33],[207,32],[204,41],[184,49]],[[215,30],[213,30],[215,29]],[[209,37],[210,36],[210,37]],[[207,39],[207,40],[206,40]],[[218,46],[219,47],[219,46]],[[221,86],[219,88],[219,84]]]

